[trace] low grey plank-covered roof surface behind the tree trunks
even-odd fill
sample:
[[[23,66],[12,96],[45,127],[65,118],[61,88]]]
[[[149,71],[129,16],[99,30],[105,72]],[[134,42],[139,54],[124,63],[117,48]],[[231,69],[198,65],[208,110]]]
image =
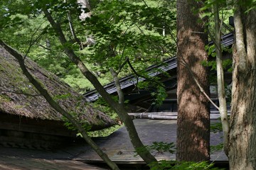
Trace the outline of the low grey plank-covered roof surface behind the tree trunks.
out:
[[[218,120],[213,120],[213,123]],[[139,137],[144,145],[151,145],[152,142],[176,142],[176,120],[149,120],[135,119],[134,125],[137,128]],[[222,142],[221,132],[211,133],[211,145],[218,145]],[[134,148],[129,140],[127,130],[123,127],[106,138],[97,139],[95,142],[108,154],[112,161],[120,164],[142,164],[141,157],[134,157]],[[156,159],[175,160],[175,154],[153,152]],[[102,159],[92,149],[87,149],[75,160],[81,162],[102,162]],[[210,154],[211,161],[227,162],[228,158],[224,152]]]

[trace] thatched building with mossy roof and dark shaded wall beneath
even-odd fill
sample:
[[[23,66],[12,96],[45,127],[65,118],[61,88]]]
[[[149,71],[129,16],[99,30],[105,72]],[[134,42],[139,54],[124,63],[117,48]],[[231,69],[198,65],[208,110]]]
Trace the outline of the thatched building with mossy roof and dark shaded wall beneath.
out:
[[[56,101],[70,113],[76,113],[90,130],[114,125],[104,113],[58,77],[26,58],[26,66]],[[76,133],[46,102],[23,75],[16,59],[0,46],[0,146],[49,149],[73,141]]]

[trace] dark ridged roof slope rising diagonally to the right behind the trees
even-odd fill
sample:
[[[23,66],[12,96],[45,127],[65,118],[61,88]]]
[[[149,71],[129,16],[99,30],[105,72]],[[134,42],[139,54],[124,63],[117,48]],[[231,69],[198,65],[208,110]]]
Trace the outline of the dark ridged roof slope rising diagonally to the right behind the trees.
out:
[[[228,47],[233,44],[234,36],[233,33],[228,33],[226,35],[223,35],[222,37],[222,44],[224,47]],[[209,42],[209,45],[213,45],[213,42]],[[154,69],[158,68],[161,69],[162,72],[168,72],[171,69],[176,69],[177,67],[177,60],[176,57],[171,57],[167,60],[163,61],[163,64],[161,65],[152,65],[151,67],[148,67],[146,69],[146,72],[149,72],[149,77],[155,77],[156,75],[161,74],[161,72],[154,72]],[[152,72],[153,71],[153,72]],[[122,79],[119,79],[119,82],[121,84],[121,88],[125,89],[129,86],[133,86],[134,84],[137,84],[138,81],[144,81],[145,79],[142,77],[134,77],[134,75],[129,75],[127,77],[123,77]],[[111,82],[110,84],[107,84],[104,86],[108,94],[114,94],[117,89],[115,87],[114,82]],[[84,94],[87,101],[96,101],[97,98],[100,97],[100,94],[97,93],[96,90],[89,91]]]

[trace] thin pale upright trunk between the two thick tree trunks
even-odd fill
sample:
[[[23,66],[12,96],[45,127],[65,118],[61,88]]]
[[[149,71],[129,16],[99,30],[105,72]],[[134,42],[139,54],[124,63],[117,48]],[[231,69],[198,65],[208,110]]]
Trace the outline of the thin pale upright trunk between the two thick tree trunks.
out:
[[[215,25],[215,51],[216,51],[216,65],[217,65],[217,83],[218,83],[218,100],[220,103],[219,112],[223,128],[223,144],[225,154],[228,155],[228,111],[227,102],[225,96],[225,86],[224,86],[224,72],[223,72],[223,55],[220,39],[220,17],[218,10],[218,2],[213,4],[214,13],[214,25]]]

